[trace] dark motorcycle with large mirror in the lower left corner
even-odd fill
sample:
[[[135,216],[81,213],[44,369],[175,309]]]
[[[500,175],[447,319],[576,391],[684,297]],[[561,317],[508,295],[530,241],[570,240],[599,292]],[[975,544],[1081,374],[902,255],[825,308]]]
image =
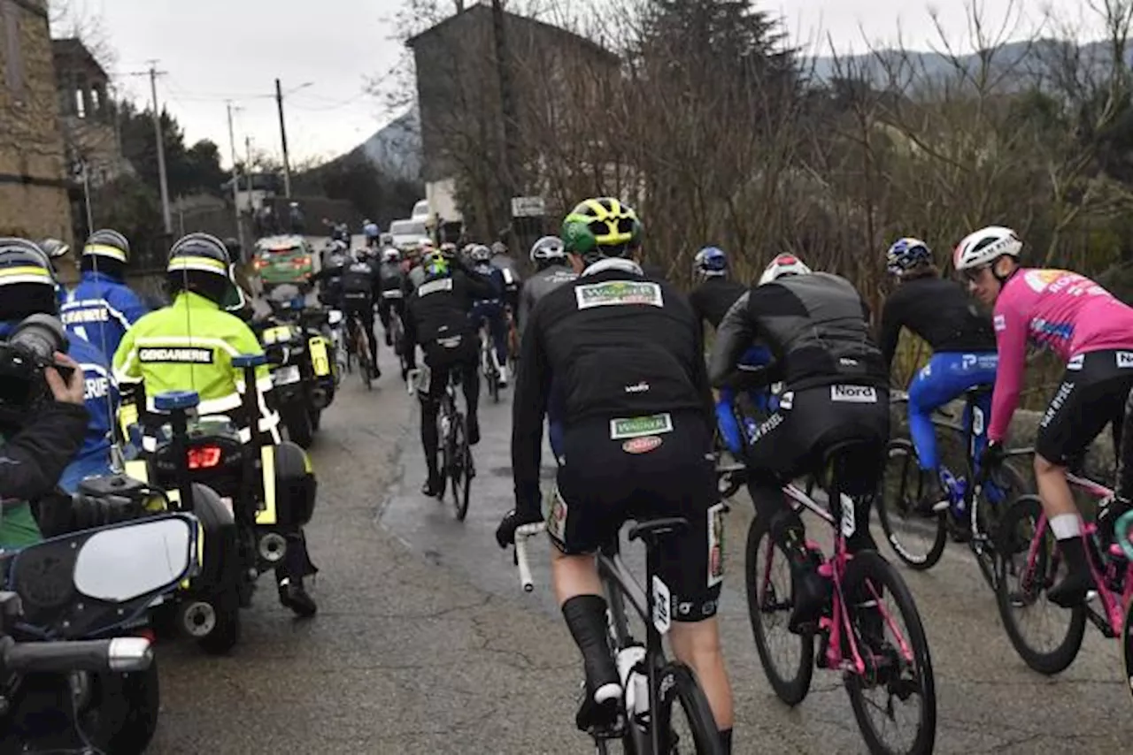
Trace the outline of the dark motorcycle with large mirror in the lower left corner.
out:
[[[135,627],[197,573],[199,535],[162,514],[0,554],[0,755],[145,752],[160,688]]]

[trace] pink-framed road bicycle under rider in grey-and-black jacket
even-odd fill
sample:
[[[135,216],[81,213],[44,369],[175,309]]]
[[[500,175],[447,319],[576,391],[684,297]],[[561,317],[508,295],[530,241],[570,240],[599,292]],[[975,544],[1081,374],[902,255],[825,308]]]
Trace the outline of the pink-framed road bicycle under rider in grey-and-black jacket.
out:
[[[824,454],[823,472],[816,482],[827,491],[829,511],[794,483],[782,490],[795,511],[809,511],[834,529],[834,555],[818,567],[819,575],[832,583],[832,599],[818,621],[818,658],[815,658],[815,634],[794,634],[787,629],[793,608],[792,576],[786,554],[774,546],[769,523],[759,516],[748,530],[744,568],[748,615],[759,660],[780,700],[792,706],[802,702],[810,690],[816,664],[841,672],[869,750],[921,755],[931,753],[936,740],[936,685],[917,604],[901,573],[876,551],[846,550],[846,541],[857,529],[868,527],[868,508],[863,516],[858,509],[868,507],[870,497],[846,496],[841,492],[842,483],[849,479],[847,473],[852,474],[850,470],[872,463],[876,454],[875,447],[858,444],[837,444]],[[776,566],[782,567],[781,572],[787,570],[785,585],[773,583]],[[886,607],[888,600],[895,603],[893,609]],[[904,624],[903,630],[897,627],[897,617]],[[775,660],[776,647],[790,651],[792,645],[795,660],[782,664]],[[879,693],[879,701],[872,698],[875,693]],[[895,720],[895,703],[909,702],[914,695],[920,706],[908,745],[886,745],[881,724]],[[881,714],[881,721],[874,720],[871,709]]]

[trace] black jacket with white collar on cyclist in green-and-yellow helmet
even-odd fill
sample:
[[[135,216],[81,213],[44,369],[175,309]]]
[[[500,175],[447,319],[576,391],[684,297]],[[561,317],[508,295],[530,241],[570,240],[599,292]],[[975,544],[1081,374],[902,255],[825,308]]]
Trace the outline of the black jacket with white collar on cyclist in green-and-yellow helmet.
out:
[[[543,418],[552,383],[566,428],[586,419],[695,410],[712,431],[700,328],[676,289],[624,259],[590,265],[547,293],[523,334],[512,401],[517,506],[539,503]]]

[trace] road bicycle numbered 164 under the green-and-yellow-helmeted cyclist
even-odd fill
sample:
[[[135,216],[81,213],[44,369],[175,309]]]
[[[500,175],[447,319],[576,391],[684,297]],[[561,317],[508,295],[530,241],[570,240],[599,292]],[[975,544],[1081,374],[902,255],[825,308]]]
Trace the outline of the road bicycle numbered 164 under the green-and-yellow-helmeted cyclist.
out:
[[[557,495],[557,492],[555,494]],[[663,640],[672,626],[668,586],[657,575],[659,548],[666,538],[684,532],[689,522],[682,517],[642,520],[631,525],[630,542],[641,540],[646,548],[648,592],[633,578],[621,556],[615,534],[598,549],[598,577],[602,580],[606,609],[610,654],[622,683],[622,710],[611,729],[591,730],[595,752],[606,755],[621,741],[627,755],[722,755],[719,733],[708,698],[692,669],[665,659]],[[516,564],[525,592],[531,592],[531,569],[527,561],[527,540],[546,530],[542,522],[516,530]],[[628,610],[645,627],[645,644],[630,628]],[[674,713],[679,720],[674,721]]]

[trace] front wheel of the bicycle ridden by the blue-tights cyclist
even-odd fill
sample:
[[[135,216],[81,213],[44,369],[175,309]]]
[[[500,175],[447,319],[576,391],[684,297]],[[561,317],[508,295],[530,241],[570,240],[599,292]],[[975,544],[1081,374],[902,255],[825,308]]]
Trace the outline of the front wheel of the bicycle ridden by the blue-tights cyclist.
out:
[[[894,438],[885,453],[881,505],[877,507],[881,530],[893,552],[910,568],[930,569],[940,560],[948,540],[946,513],[923,513],[919,508],[929,491],[925,490],[925,475],[911,441]]]

